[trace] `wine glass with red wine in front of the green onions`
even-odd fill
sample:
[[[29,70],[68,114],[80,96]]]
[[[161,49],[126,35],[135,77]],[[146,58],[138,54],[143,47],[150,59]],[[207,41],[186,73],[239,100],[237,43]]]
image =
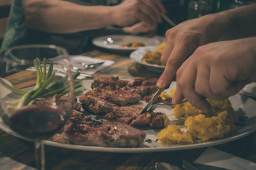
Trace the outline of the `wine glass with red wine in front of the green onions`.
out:
[[[72,110],[71,68],[67,50],[59,46],[24,45],[0,52],[0,83],[12,91],[1,99],[1,116],[14,133],[35,141],[38,169],[45,169],[42,141],[61,130]],[[60,70],[63,77],[57,75]]]

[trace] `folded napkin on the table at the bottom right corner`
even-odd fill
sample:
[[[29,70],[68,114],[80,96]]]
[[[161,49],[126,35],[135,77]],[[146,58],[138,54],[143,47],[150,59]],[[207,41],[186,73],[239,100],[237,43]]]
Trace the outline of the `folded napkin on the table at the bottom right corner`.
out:
[[[235,155],[231,155],[230,153],[223,152],[213,147],[207,148],[202,155],[195,160],[195,163],[232,170],[256,169],[256,164],[254,162],[236,157]]]

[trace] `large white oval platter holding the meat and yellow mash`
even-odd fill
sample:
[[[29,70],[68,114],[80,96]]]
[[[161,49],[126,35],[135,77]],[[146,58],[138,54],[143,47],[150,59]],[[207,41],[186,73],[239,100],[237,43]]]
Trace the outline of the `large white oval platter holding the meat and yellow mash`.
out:
[[[83,81],[82,83],[84,87],[89,90],[92,81]],[[174,87],[175,87],[175,83],[172,83],[170,89],[173,89]],[[168,89],[168,91],[170,89]],[[8,96],[6,96],[4,100],[10,100],[13,97],[17,97],[17,96],[13,96],[13,94],[8,94]],[[108,147],[98,147],[98,146],[70,145],[70,144],[56,143],[50,140],[44,141],[44,144],[57,146],[61,148],[70,148],[74,150],[86,150],[86,151],[94,151],[94,152],[122,152],[122,153],[166,152],[166,151],[172,151],[172,150],[187,150],[187,149],[193,149],[193,148],[202,148],[205,146],[220,145],[223,143],[227,143],[229,141],[234,141],[236,139],[243,138],[248,134],[252,134],[252,132],[256,130],[256,119],[255,119],[256,101],[248,97],[241,96],[239,94],[232,96],[229,99],[231,101],[231,104],[234,110],[239,110],[239,108],[243,109],[243,111],[246,113],[246,116],[249,118],[249,121],[241,129],[236,131],[236,133],[230,134],[226,138],[211,140],[204,143],[195,143],[193,145],[162,145],[159,141],[156,141],[157,132],[152,129],[148,129],[148,130],[143,130],[147,134],[145,139],[151,139],[152,143],[143,143],[138,148],[108,148]],[[137,106],[142,106],[144,104],[145,103],[140,103],[140,104],[137,104]],[[174,118],[172,114],[172,110],[168,107],[157,108],[156,111],[165,112],[171,120]],[[24,138],[24,136],[20,136],[16,132],[12,131],[12,129],[10,129],[8,125],[4,124],[2,120],[0,121],[0,129],[18,138],[32,141],[31,139]]]

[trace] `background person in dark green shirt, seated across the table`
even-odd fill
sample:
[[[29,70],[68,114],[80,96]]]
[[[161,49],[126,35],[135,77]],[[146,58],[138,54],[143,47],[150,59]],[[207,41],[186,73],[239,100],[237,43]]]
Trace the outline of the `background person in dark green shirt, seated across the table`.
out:
[[[106,0],[13,0],[1,50],[15,45],[54,44],[70,53],[81,53],[92,30],[118,25],[130,34],[152,36],[161,22],[159,12],[166,12],[160,1],[106,4]]]

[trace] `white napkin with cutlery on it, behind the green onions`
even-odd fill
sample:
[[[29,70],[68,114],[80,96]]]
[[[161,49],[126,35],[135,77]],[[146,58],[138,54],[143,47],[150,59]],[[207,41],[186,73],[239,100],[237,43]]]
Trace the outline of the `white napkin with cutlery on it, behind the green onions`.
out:
[[[60,57],[56,57],[55,59],[56,60],[54,60],[54,62],[61,63]],[[101,66],[95,67],[93,69],[87,69],[87,70],[80,71],[81,74],[77,77],[77,79],[79,79],[79,80],[84,79],[86,77],[92,77],[92,74],[96,73],[97,71],[100,71],[101,69],[104,69],[105,67],[111,66],[114,63],[113,60],[95,59],[95,58],[87,57],[87,56],[83,56],[83,55],[70,55],[70,62],[71,62],[71,64],[74,62],[81,62],[81,63],[84,62],[86,64],[104,62],[104,64],[102,64]],[[35,71],[35,68],[31,67],[31,68],[28,68],[28,70]],[[65,76],[65,72],[63,71],[63,69],[60,66],[57,66],[55,64],[53,67],[53,70],[56,71],[56,75]]]

